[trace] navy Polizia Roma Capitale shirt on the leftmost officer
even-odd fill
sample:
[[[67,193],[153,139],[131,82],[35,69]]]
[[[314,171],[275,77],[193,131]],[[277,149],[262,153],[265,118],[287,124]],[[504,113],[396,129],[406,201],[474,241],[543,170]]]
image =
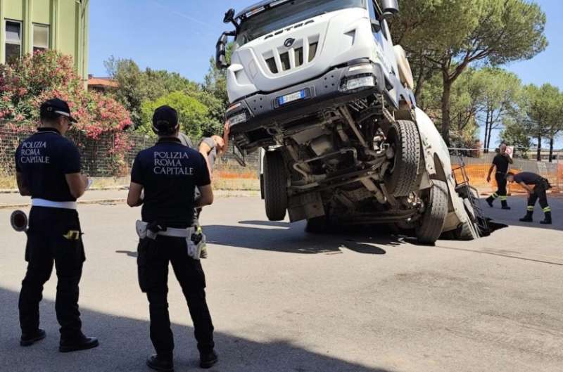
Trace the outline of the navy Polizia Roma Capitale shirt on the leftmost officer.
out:
[[[54,128],[39,128],[15,150],[15,170],[23,174],[32,198],[76,201],[65,174],[80,173],[80,153]]]

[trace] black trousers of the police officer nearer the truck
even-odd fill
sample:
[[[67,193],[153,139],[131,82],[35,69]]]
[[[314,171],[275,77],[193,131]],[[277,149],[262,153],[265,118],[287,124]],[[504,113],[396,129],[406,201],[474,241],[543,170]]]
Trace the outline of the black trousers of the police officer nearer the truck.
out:
[[[137,266],[139,286],[146,293],[151,316],[151,341],[160,357],[172,357],[174,338],[168,314],[168,263],[182,287],[200,352],[209,352],[213,342],[213,322],[205,301],[205,274],[201,262],[188,256],[185,238],[158,236],[139,241]]]

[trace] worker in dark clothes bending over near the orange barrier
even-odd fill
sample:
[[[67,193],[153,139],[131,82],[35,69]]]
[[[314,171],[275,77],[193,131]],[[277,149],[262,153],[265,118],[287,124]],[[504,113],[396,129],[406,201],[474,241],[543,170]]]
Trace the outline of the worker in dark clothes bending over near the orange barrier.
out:
[[[545,214],[545,219],[540,221],[540,224],[550,225],[552,223],[551,207],[548,204],[548,195],[546,194],[546,191],[551,188],[550,182],[541,177],[539,174],[532,172],[521,172],[519,174],[509,172],[507,174],[507,179],[511,183],[516,182],[528,192],[528,211],[526,212],[526,216],[522,217],[520,221],[533,222],[533,207],[539,199],[540,207]]]

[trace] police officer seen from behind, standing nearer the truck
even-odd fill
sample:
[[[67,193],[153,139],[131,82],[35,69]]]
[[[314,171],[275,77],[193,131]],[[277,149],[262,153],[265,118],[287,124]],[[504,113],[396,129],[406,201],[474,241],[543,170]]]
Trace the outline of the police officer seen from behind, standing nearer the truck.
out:
[[[174,368],[167,303],[170,262],[194,322],[200,366],[210,368],[217,362],[213,323],[205,302],[201,251],[191,241],[195,232],[194,207],[213,203],[209,172],[203,156],[178,139],[176,110],[169,106],[156,109],[153,131],[158,134],[158,142],[137,155],[127,196],[129,206],[143,206],[142,221],[137,222],[137,265],[139,285],[148,298],[151,340],[156,350],[156,355],[147,359],[147,365],[157,371]],[[194,201],[196,187],[201,197]]]

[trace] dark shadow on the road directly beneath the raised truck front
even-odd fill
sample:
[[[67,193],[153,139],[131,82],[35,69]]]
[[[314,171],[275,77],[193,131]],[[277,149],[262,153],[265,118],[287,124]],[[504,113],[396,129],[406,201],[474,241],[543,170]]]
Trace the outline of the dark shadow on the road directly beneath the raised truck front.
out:
[[[366,255],[385,255],[381,246],[403,244],[400,236],[377,228],[307,233],[303,222],[241,221],[236,226],[203,226],[203,232],[212,244],[303,254],[340,252],[346,248]]]

